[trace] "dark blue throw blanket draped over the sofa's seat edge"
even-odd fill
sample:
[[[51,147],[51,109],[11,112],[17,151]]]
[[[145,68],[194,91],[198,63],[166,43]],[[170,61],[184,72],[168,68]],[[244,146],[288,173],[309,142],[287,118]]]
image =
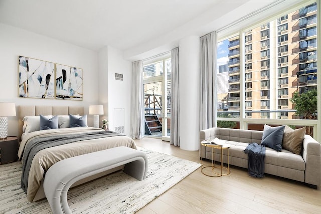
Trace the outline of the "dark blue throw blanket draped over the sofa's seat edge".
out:
[[[265,146],[250,143],[243,151],[248,155],[248,173],[251,177],[264,177]]]

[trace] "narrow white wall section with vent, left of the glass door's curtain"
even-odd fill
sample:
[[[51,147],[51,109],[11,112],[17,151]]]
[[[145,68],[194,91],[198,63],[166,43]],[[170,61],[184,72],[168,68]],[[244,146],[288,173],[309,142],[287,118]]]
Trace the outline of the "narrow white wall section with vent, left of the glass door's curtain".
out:
[[[123,81],[115,80],[115,73],[123,74]],[[131,79],[132,62],[123,59],[123,52],[108,46],[108,120],[109,128],[114,131],[115,124],[119,124],[114,115],[114,109],[124,109],[125,134],[130,134],[131,117]]]

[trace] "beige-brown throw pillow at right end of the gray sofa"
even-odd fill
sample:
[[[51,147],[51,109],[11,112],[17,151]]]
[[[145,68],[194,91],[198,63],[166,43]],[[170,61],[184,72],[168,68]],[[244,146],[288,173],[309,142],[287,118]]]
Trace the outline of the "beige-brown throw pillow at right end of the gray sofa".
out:
[[[282,148],[300,155],[305,132],[306,127],[293,130],[289,126],[285,125]]]

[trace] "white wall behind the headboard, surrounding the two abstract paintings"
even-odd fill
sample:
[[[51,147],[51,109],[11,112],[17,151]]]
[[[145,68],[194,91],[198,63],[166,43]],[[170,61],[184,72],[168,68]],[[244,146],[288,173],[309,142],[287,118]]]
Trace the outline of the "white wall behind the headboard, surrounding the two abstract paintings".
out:
[[[19,98],[19,55],[82,68],[83,101]],[[97,52],[0,23],[0,102],[84,106],[88,114],[88,106],[98,103],[98,78]],[[8,135],[17,136],[18,118],[9,117],[8,120]],[[92,115],[88,115],[88,125],[93,125]]]

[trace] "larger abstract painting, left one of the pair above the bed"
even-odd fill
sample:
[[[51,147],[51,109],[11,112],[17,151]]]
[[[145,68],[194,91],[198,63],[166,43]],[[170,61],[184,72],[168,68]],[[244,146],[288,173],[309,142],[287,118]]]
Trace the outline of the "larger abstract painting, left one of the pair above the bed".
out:
[[[19,97],[55,98],[55,64],[19,56]]]

